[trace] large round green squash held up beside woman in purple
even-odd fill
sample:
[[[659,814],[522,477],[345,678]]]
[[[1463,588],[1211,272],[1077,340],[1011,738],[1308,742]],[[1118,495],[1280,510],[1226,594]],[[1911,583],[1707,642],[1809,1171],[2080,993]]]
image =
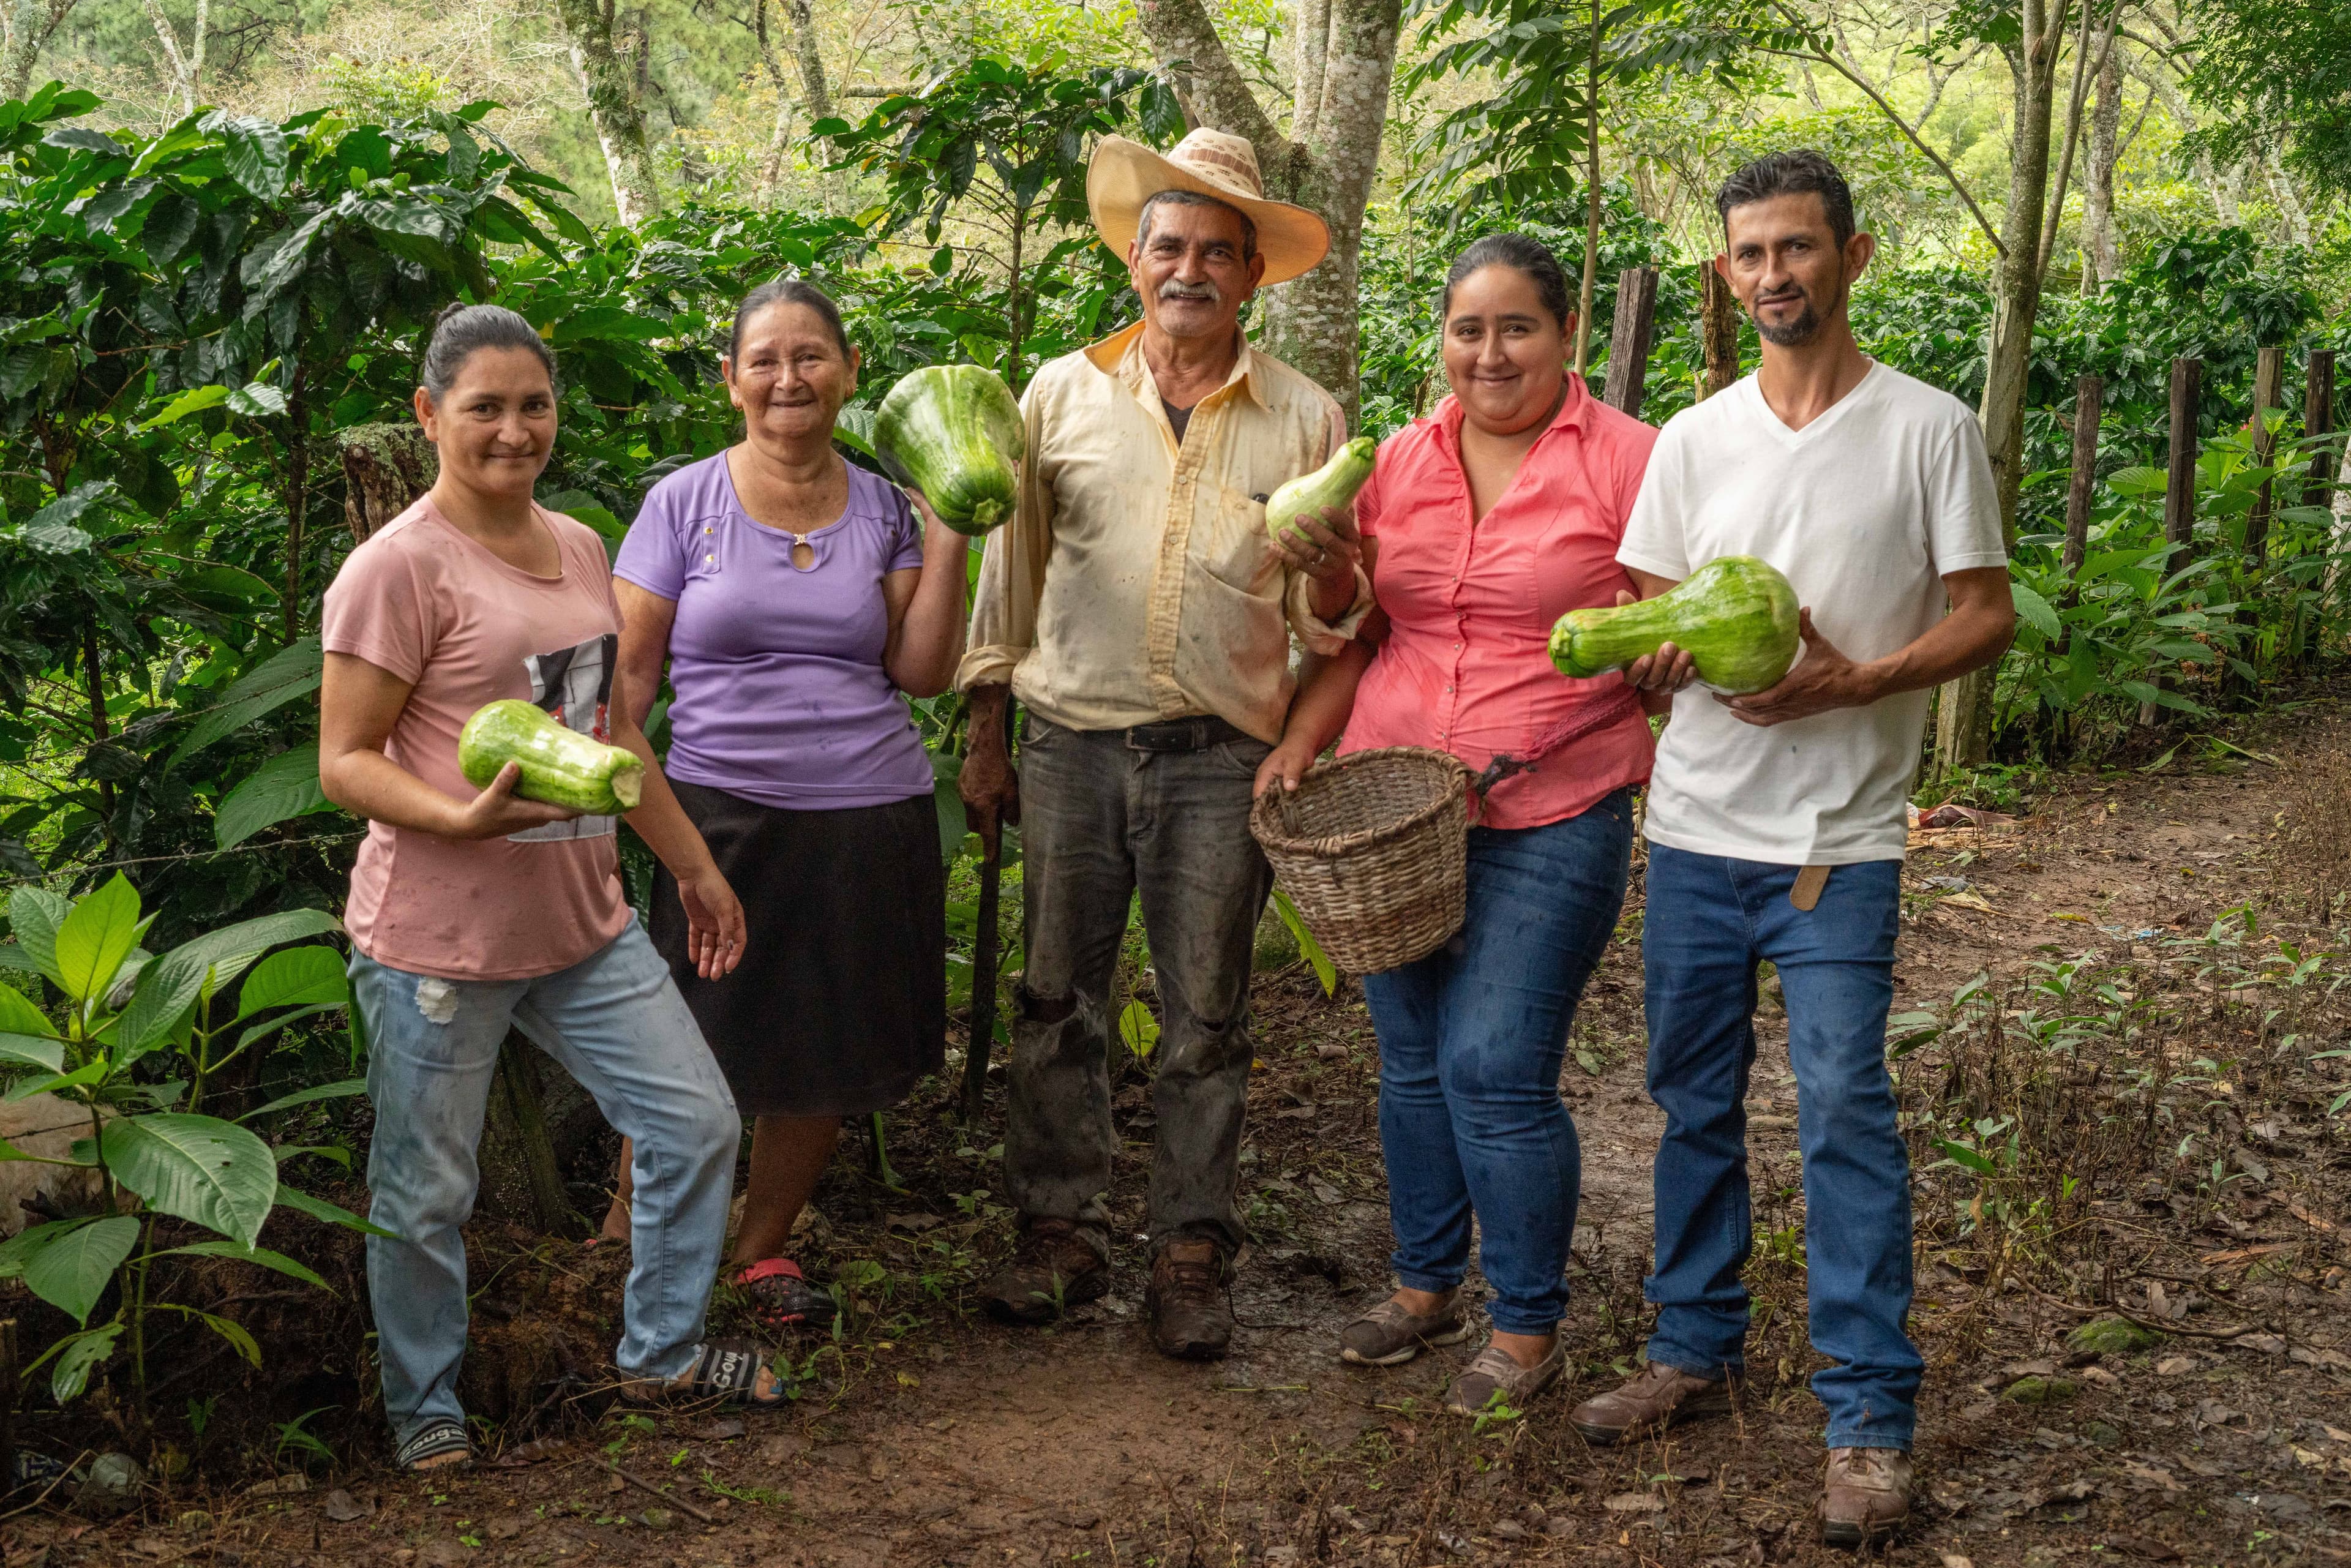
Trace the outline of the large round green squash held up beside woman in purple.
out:
[[[957,534],[1011,522],[1013,468],[1027,456],[1020,404],[992,369],[926,364],[907,371],[875,414],[875,456],[898,484],[919,489]]]

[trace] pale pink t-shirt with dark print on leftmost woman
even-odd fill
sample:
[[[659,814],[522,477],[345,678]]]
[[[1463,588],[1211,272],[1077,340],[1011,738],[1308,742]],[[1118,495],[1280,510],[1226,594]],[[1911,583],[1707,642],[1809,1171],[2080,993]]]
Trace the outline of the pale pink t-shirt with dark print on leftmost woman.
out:
[[[383,755],[435,790],[473,799],[456,733],[484,703],[522,698],[609,738],[621,644],[604,541],[557,512],[562,576],[510,567],[461,534],[433,498],[350,552],[327,588],[324,642],[414,686]],[[628,924],[609,816],[505,839],[456,842],[369,823],[343,924],[390,969],[444,980],[522,980],[578,964]]]

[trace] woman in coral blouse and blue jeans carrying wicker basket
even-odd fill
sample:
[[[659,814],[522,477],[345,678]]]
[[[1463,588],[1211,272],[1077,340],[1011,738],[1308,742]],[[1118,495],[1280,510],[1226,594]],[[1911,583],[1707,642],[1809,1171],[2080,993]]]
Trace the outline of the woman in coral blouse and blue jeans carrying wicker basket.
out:
[[[1575,310],[1552,254],[1491,235],[1446,277],[1453,395],[1380,447],[1357,496],[1380,609],[1307,672],[1258,790],[1342,752],[1427,745],[1500,776],[1469,830],[1469,912],[1441,950],[1364,976],[1380,1034],[1380,1143],[1399,1291],[1340,1335],[1394,1366],[1465,1338],[1472,1213],[1493,1342],[1446,1406],[1523,1401],[1559,1375],[1580,1164],[1559,1103],[1575,1001],[1615,931],[1650,733],[1615,677],[1552,668],[1552,623],[1615,604],[1615,564],[1657,433],[1566,369]],[[1502,769],[1495,769],[1502,773]]]

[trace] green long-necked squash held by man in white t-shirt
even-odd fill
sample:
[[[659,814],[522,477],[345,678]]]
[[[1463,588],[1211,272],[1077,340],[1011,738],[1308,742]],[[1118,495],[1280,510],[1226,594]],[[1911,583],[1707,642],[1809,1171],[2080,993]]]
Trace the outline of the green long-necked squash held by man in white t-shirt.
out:
[[[1712,559],[1669,592],[1615,609],[1570,609],[1552,628],[1552,663],[1587,679],[1672,642],[1716,691],[1777,686],[1796,663],[1796,590],[1751,555]]]

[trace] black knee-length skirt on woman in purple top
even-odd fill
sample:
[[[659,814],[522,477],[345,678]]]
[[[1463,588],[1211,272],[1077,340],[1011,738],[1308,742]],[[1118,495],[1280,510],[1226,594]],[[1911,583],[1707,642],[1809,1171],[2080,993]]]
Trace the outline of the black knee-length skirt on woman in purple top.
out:
[[[654,945],[745,1117],[860,1117],[900,1103],[947,1048],[947,875],[938,813],[783,811],[670,780],[743,900],[743,964],[703,980],[677,879],[654,884]]]

